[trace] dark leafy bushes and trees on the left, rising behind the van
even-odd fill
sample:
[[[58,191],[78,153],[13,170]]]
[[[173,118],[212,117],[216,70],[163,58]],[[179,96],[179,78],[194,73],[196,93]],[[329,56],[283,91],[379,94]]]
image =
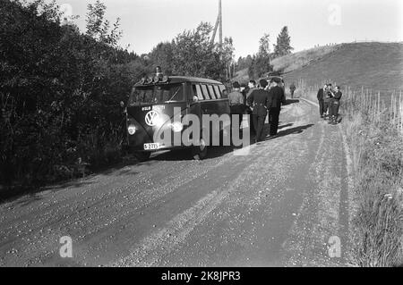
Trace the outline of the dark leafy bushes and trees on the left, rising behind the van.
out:
[[[117,45],[119,21],[110,25],[99,1],[88,6],[85,33],[62,23],[55,4],[0,7],[0,185],[40,185],[74,177],[82,163],[115,162],[124,140],[119,102],[136,81],[156,65],[222,80],[232,60],[208,43],[207,23],[139,56]]]

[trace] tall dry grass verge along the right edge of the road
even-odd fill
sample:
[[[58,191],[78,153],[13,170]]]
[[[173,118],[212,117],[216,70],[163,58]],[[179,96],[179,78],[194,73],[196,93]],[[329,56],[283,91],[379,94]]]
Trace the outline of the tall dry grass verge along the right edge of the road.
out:
[[[398,266],[403,264],[403,137],[389,122],[362,111],[347,112],[343,128],[358,198],[355,262]]]

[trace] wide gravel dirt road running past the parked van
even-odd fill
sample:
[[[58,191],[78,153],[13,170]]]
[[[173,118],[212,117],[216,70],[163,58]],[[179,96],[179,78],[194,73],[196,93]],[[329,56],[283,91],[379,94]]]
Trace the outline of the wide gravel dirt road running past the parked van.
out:
[[[160,154],[0,205],[0,265],[346,265],[339,127],[304,101],[285,106],[280,121],[279,137],[249,155]],[[64,236],[73,258],[59,254]],[[341,257],[330,258],[330,237]]]

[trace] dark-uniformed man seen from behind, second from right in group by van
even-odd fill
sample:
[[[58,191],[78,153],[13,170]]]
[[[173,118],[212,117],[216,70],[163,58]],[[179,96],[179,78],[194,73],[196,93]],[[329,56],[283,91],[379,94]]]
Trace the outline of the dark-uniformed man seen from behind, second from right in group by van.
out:
[[[269,93],[264,90],[268,85],[267,80],[260,80],[260,88],[253,90],[250,96],[248,96],[248,105],[253,108],[253,126],[256,132],[256,141],[262,141],[264,121],[267,116]]]

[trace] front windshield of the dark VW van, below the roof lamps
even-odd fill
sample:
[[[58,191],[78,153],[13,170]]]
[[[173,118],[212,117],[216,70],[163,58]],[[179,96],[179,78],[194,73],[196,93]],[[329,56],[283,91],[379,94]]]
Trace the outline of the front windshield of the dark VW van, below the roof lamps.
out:
[[[183,84],[133,88],[128,105],[161,104],[184,101]]]

